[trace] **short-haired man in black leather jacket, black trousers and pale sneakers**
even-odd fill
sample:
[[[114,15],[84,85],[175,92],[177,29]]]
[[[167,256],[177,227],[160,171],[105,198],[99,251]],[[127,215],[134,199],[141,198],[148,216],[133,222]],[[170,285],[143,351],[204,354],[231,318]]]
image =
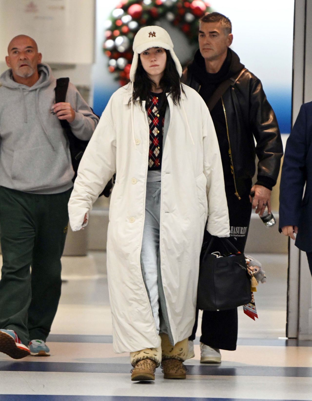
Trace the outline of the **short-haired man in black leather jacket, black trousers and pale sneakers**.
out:
[[[261,81],[229,49],[233,41],[231,28],[229,18],[217,12],[201,18],[199,50],[184,71],[182,81],[198,91],[209,107],[223,164],[231,228],[229,239],[243,252],[251,207],[260,215],[266,205],[271,210],[271,190],[278,178],[283,146],[276,116]],[[252,186],[256,155],[259,159],[257,182]],[[253,199],[251,192],[255,192]],[[206,232],[204,241],[209,239]],[[213,251],[226,252],[216,242]],[[197,322],[189,341],[189,357],[193,356],[196,329]],[[237,330],[237,308],[204,311],[201,362],[220,363],[220,348],[235,350]]]

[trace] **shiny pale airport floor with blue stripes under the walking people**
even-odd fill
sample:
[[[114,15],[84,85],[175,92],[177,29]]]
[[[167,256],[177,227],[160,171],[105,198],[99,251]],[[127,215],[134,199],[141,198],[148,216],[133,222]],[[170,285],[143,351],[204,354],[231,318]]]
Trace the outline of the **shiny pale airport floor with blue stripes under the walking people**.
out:
[[[164,380],[159,368],[148,384],[132,383],[128,354],[113,353],[105,254],[63,258],[51,356],[0,354],[0,401],[312,400],[312,341],[284,339],[287,256],[254,256],[268,282],[255,295],[259,320],[239,308],[237,350],[201,365],[197,338],[185,381]]]

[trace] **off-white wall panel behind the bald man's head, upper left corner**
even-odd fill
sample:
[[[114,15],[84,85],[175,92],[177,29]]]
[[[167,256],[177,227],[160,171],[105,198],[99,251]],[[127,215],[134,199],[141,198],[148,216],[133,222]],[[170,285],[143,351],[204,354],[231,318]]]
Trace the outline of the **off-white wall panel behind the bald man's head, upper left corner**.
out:
[[[0,0],[0,59],[14,36],[26,34],[47,63],[93,63],[94,16],[94,0]]]

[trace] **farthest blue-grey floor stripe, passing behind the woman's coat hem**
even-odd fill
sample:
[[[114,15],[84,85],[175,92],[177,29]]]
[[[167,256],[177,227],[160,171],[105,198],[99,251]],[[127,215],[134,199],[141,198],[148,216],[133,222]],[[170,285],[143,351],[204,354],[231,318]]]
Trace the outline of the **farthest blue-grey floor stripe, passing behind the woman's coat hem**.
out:
[[[113,336],[87,336],[80,334],[50,334],[48,342],[89,342],[111,344]],[[194,344],[199,344],[199,338],[194,340]],[[258,345],[258,346],[290,346],[290,347],[312,347],[311,340],[279,340],[275,338],[239,338],[237,345]]]

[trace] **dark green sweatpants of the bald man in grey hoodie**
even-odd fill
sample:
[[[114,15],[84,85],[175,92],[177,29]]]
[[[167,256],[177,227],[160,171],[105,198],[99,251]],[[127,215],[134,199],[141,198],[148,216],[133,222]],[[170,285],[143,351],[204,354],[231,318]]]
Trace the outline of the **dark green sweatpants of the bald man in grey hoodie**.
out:
[[[0,187],[0,329],[14,330],[25,345],[46,340],[57,312],[71,190],[41,195]]]

